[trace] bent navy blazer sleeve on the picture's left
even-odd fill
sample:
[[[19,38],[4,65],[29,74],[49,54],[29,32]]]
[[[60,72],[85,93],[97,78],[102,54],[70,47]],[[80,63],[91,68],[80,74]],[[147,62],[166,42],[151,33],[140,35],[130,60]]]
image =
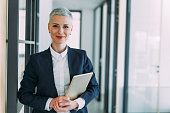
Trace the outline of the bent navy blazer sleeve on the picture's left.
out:
[[[44,111],[45,104],[48,97],[38,96],[35,94],[35,87],[38,83],[38,76],[36,74],[36,64],[34,64],[34,57],[31,56],[25,68],[21,87],[18,91],[18,98],[22,104],[33,107],[34,109]]]

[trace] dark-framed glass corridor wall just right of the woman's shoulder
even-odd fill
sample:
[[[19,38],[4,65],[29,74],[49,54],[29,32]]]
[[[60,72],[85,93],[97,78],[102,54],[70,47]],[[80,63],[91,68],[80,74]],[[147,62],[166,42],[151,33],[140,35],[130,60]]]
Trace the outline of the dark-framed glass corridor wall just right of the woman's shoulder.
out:
[[[103,101],[105,90],[107,3],[95,10],[94,71],[100,85],[99,98]],[[98,98],[98,99],[99,99]],[[99,99],[99,100],[100,100]]]

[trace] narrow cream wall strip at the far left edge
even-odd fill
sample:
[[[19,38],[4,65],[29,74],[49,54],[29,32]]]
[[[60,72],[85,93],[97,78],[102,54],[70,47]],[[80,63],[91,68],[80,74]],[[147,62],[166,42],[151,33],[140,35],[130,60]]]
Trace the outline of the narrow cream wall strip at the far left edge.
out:
[[[0,0],[0,113],[5,113],[7,1]]]

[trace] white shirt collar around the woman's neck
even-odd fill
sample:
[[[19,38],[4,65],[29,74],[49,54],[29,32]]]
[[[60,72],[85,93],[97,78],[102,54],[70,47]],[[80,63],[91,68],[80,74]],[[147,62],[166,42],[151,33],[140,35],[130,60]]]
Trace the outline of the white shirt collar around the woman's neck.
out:
[[[68,51],[68,47],[66,47],[66,50],[64,50],[62,53],[57,53],[56,51],[54,51],[54,49],[50,46],[50,51],[51,51],[51,55],[58,59],[59,56],[61,56],[62,58],[65,57],[67,55],[67,51]]]

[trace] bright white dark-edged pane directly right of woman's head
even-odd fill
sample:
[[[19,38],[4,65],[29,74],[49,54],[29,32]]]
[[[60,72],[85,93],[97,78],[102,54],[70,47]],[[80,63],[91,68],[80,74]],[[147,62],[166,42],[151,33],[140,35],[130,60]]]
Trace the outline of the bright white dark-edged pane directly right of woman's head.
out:
[[[80,48],[80,12],[71,12],[73,15],[73,31],[67,44],[73,48]]]

